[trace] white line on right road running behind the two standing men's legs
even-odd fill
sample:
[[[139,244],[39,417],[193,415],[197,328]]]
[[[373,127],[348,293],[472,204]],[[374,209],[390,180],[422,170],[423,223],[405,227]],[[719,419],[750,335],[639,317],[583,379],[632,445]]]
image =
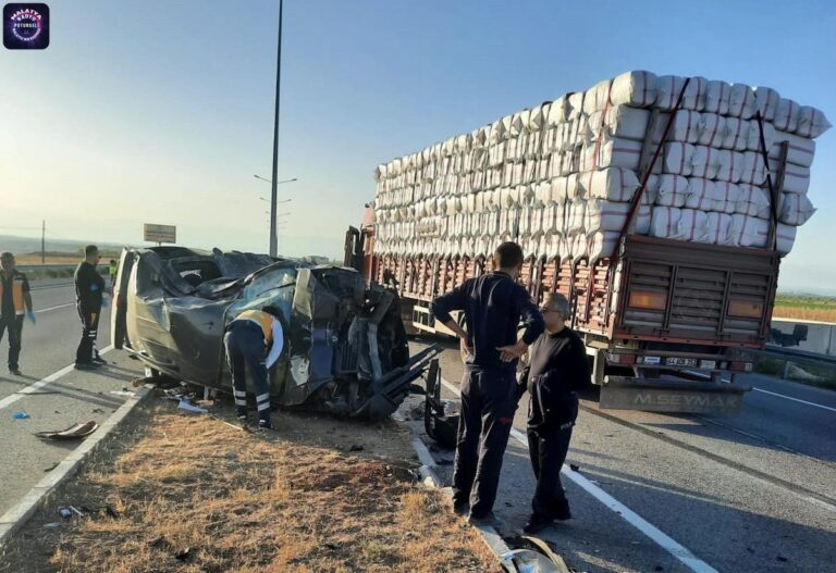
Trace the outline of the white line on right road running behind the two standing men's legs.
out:
[[[441,378],[441,383],[456,396],[460,393],[458,388],[450,382]],[[522,444],[528,449],[528,438],[518,429],[511,431],[511,435]],[[641,533],[650,537],[662,549],[674,556],[684,565],[696,573],[718,573],[716,569],[712,568],[705,561],[694,556],[691,551],[686,549],[683,545],[678,544],[672,537],[663,533],[655,525],[644,520],[641,515],[629,509],[627,506],[615,499],[613,496],[598,487],[595,484],[587,479],[578,472],[573,472],[567,465],[564,464],[561,469],[561,473],[568,479],[574,482],[578,487],[586,490],[589,495],[598,499],[601,503],[610,508],[612,511],[620,515],[627,523],[639,530]]]

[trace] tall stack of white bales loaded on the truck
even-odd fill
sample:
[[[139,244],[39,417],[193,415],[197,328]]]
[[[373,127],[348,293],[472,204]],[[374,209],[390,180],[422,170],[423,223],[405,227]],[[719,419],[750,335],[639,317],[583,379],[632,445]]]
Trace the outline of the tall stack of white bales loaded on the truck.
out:
[[[654,109],[651,144],[662,139],[685,82],[628,72],[380,165],[377,252],[488,257],[516,240],[526,256],[550,260],[608,257],[640,187]],[[814,212],[807,198],[813,139],[829,126],[821,111],[774,89],[691,78],[630,233],[766,247],[766,173],[777,183],[786,141],[775,208],[777,248],[789,252]]]

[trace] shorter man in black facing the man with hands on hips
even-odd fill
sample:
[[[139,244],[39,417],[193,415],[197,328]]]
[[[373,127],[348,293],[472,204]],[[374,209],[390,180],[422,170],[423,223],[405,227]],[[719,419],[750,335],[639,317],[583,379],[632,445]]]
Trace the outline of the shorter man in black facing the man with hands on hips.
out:
[[[565,325],[569,302],[550,292],[540,309],[545,332],[528,349],[528,366],[517,387],[521,398],[528,388],[528,448],[537,478],[532,513],[526,533],[537,533],[555,520],[571,518],[569,502],[561,485],[561,468],[566,460],[571,427],[578,416],[578,396],[590,383],[583,341]]]

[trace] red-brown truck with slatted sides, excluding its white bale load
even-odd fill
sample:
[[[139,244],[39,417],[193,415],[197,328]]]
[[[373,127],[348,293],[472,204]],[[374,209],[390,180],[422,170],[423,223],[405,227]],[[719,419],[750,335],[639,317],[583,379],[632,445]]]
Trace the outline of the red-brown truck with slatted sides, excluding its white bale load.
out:
[[[644,180],[663,142],[664,136],[648,138],[642,146]],[[784,147],[770,179],[773,204],[786,153]],[[490,272],[490,257],[379,254],[373,207],[348,228],[344,264],[397,289],[408,333],[452,336],[430,303]],[[585,341],[601,408],[735,413],[751,389],[737,377],[752,370],[750,354],[738,350],[761,349],[770,334],[780,265],[772,215],[766,248],[657,238],[625,225],[610,257],[590,263],[528,254],[519,281],[534,301],[546,292],[569,300],[570,327]]]

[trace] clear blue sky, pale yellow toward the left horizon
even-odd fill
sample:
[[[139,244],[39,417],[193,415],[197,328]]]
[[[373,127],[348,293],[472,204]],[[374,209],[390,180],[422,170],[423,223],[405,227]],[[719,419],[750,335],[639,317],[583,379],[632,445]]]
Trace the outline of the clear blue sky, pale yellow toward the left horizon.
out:
[[[53,0],[0,51],[0,235],[263,252],[278,1]],[[836,123],[828,1],[285,0],[279,250],[339,257],[379,163],[628,70],[776,88]],[[780,288],[836,292],[836,129]]]

